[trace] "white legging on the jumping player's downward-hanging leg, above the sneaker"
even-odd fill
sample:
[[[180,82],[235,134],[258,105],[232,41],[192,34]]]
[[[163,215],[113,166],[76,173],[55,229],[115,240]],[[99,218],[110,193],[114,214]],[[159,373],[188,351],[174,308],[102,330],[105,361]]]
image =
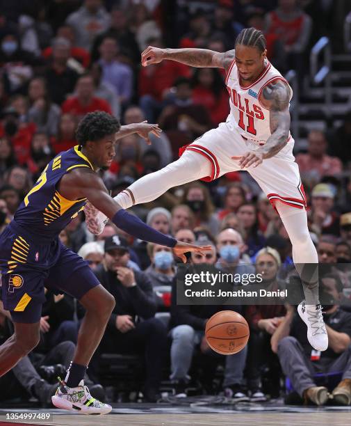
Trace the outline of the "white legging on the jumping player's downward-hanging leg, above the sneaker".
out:
[[[319,303],[318,254],[309,235],[307,212],[279,202],[276,207],[293,245],[293,261],[302,279],[306,304],[316,306]]]

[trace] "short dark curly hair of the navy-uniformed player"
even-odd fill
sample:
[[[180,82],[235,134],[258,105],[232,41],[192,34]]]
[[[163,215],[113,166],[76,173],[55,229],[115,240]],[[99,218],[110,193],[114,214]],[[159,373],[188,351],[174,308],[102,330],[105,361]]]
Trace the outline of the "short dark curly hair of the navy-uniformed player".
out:
[[[99,139],[120,130],[120,121],[104,111],[88,113],[79,122],[76,129],[76,140],[79,145],[85,146],[87,141],[99,141]]]

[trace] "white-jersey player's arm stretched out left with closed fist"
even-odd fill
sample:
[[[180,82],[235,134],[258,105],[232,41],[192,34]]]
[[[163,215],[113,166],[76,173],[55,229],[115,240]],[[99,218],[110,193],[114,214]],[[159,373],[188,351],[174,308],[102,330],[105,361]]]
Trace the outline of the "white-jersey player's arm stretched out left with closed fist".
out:
[[[234,49],[228,52],[214,52],[209,49],[159,49],[149,46],[141,54],[142,66],[160,63],[164,59],[177,61],[197,68],[225,68],[234,59]]]

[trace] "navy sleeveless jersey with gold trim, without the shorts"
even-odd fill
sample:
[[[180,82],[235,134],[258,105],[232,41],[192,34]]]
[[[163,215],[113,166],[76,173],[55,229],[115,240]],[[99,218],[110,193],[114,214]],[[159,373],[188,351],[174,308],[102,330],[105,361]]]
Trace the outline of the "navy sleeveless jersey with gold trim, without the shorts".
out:
[[[86,198],[67,200],[57,188],[63,175],[73,168],[87,167],[93,170],[89,159],[78,148],[76,145],[68,151],[60,152],[47,164],[15,213],[14,220],[19,226],[44,241],[52,241],[57,237],[85,205]]]

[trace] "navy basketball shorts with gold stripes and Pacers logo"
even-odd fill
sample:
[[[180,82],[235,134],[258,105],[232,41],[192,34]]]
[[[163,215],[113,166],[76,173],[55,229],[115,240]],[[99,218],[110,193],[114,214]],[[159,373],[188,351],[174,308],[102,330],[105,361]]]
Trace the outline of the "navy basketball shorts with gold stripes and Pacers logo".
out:
[[[14,221],[0,235],[1,299],[14,322],[39,322],[44,287],[81,299],[99,281],[58,238],[43,242]]]

